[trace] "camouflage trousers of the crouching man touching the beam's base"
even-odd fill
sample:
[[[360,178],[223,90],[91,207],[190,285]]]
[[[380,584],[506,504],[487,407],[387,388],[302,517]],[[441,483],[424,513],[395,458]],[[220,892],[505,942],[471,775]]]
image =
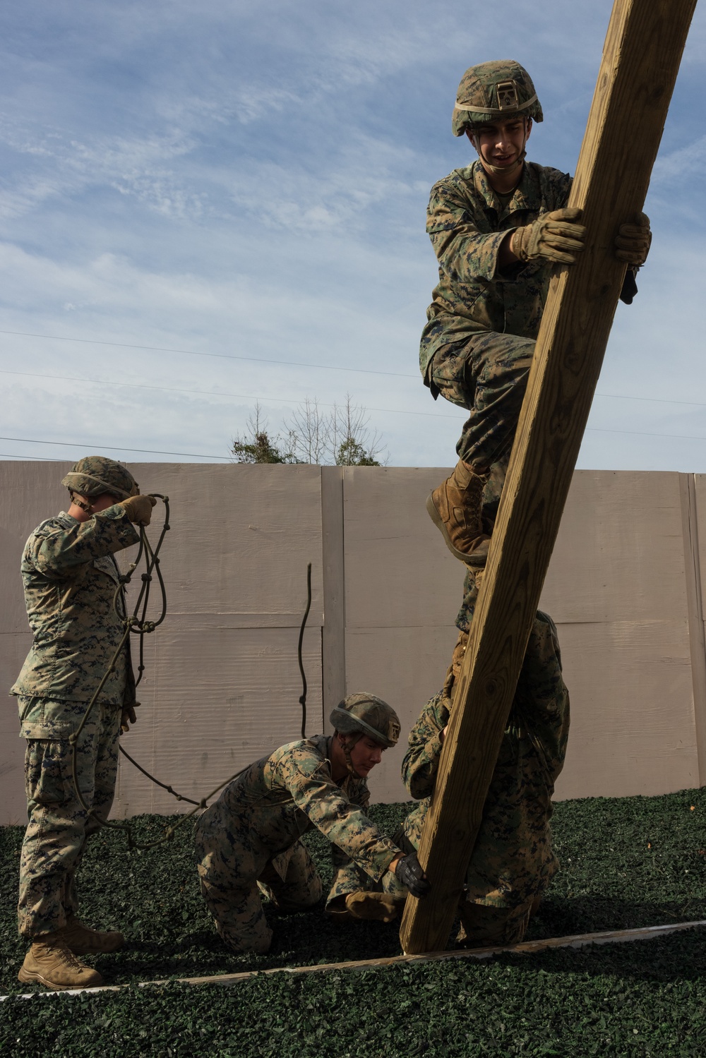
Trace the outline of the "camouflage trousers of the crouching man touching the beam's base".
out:
[[[201,895],[218,934],[237,952],[269,951],[272,930],[261,895],[285,913],[304,911],[322,896],[321,878],[301,841],[272,855],[249,825],[249,813],[233,819],[220,801],[196,825]]]

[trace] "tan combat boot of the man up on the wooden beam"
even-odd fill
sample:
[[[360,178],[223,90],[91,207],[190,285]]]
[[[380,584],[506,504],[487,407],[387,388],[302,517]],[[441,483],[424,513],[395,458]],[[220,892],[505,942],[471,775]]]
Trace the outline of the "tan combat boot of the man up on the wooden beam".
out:
[[[427,500],[432,521],[443,533],[447,547],[461,562],[485,562],[490,536],[483,531],[481,516],[487,474],[476,474],[459,459],[438,489]]]

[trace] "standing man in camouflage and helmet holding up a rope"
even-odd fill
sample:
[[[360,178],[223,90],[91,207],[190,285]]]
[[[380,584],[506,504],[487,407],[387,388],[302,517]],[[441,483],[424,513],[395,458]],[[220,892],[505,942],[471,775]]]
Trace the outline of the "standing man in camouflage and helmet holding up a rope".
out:
[[[11,690],[18,698],[29,824],[20,859],[18,928],[32,941],[20,981],[50,988],[93,987],[101,974],[76,956],[115,951],[121,933],[79,922],[75,874],[88,837],[113,800],[121,726],[134,723],[129,645],[84,725],[76,747],[80,805],[72,777],[71,737],[125,633],[124,600],[113,554],[140,540],[152,496],[104,456],[79,459],[62,485],[68,512],[42,522],[22,554],[32,649]],[[119,605],[113,606],[119,592]]]

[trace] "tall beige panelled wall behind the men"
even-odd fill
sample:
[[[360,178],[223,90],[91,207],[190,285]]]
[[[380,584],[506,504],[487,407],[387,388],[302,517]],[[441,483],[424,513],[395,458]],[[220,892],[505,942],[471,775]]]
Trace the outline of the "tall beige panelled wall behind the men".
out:
[[[31,641],[22,545],[66,508],[67,469],[0,463],[5,688]],[[168,616],[146,641],[128,752],[199,799],[298,736],[296,641],[308,562],[307,732],[326,729],[330,708],[357,690],[386,698],[409,729],[440,686],[456,636],[464,569],[423,504],[443,468],[133,469],[143,491],[169,495],[171,529],[162,551]],[[560,798],[706,783],[705,492],[702,477],[685,474],[575,474],[542,597],[559,626],[572,696]],[[23,743],[10,697],[0,735],[0,822],[20,822]],[[406,798],[402,754],[402,746],[388,750],[373,772],[374,800]],[[121,762],[114,815],[173,810],[179,805],[169,795]]]

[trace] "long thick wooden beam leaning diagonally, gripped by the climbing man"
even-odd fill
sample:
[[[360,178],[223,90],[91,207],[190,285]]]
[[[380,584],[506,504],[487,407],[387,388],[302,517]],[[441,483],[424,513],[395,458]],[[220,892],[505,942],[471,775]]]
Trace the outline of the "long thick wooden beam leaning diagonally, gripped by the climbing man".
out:
[[[586,249],[551,279],[419,849],[432,891],[402,918],[410,954],[449,938],[624,276],[613,241],[642,207],[694,7],[615,0],[568,202]]]

